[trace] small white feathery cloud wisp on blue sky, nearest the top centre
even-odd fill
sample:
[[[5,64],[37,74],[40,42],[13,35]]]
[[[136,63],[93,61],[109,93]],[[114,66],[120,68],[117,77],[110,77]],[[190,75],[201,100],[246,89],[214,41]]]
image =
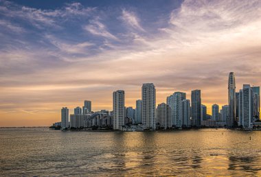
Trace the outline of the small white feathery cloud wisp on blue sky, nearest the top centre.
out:
[[[133,29],[138,29],[142,32],[145,30],[139,25],[139,18],[133,13],[128,12],[127,10],[122,10],[121,19],[126,23],[128,26],[133,27]]]

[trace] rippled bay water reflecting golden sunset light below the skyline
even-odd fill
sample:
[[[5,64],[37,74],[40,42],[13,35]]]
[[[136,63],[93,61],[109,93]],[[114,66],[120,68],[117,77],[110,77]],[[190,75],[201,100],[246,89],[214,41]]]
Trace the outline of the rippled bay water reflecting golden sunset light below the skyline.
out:
[[[259,131],[0,129],[0,176],[261,176],[260,164]]]

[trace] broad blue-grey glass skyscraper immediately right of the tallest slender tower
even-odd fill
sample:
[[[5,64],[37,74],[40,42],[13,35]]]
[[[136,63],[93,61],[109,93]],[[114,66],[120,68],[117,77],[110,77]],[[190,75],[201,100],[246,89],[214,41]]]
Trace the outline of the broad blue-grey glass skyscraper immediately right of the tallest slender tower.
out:
[[[239,92],[239,122],[243,128],[253,126],[253,91],[249,84],[244,84]]]

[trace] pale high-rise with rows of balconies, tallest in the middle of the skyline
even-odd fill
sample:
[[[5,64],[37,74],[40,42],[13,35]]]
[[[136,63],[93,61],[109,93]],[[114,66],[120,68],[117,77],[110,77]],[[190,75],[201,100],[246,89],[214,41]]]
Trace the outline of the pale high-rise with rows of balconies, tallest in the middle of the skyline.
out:
[[[142,125],[144,128],[155,130],[155,104],[156,104],[156,90],[152,83],[142,85]]]

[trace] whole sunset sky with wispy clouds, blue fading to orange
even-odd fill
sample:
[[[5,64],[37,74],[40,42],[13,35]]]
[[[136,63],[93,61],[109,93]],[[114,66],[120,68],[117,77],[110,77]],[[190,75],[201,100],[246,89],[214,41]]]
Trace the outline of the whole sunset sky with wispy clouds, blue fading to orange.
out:
[[[175,91],[227,104],[229,72],[261,82],[261,1],[0,0],[0,127],[50,126],[63,106],[112,110],[113,91],[135,108]]]

